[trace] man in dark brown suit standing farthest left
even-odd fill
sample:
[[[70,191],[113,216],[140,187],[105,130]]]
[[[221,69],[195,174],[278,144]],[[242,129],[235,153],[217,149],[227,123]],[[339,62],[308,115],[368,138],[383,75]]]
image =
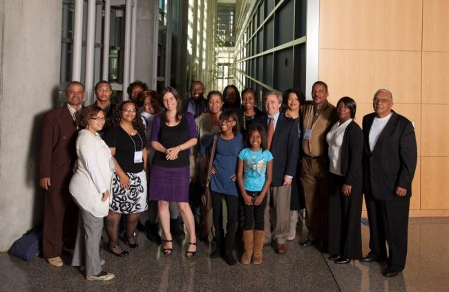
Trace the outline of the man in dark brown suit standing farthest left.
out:
[[[39,153],[39,185],[46,189],[44,202],[44,258],[61,267],[59,255],[65,247],[73,249],[77,233],[78,208],[68,191],[77,159],[75,114],[81,110],[84,85],[78,81],[66,87],[67,105],[45,114]]]

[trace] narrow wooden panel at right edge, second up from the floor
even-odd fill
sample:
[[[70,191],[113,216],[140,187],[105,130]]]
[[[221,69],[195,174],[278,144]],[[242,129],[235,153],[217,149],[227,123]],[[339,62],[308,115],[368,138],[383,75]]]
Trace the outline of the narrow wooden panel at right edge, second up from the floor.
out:
[[[422,105],[422,156],[449,156],[448,111],[449,105]]]

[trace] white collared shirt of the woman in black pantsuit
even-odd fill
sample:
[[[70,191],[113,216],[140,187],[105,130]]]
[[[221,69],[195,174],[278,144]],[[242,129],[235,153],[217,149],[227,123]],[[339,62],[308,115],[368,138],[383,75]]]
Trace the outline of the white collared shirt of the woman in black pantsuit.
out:
[[[352,118],[340,125],[336,122],[326,135],[327,144],[329,144],[329,171],[332,174],[341,176],[341,145],[343,144],[343,136],[345,129],[352,122]]]

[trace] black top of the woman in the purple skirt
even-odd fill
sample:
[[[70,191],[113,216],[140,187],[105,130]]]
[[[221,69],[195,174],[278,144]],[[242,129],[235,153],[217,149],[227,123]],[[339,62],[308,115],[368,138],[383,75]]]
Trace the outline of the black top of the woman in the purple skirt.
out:
[[[151,133],[153,134],[153,132],[157,134],[157,139],[155,140],[164,145],[166,149],[181,145],[191,138],[186,114],[182,115],[180,123],[175,126],[166,125],[164,121],[161,121],[160,116],[155,117]],[[151,140],[153,140],[153,135]],[[153,165],[160,167],[182,167],[189,165],[189,149],[182,149],[178,153],[178,158],[175,160],[167,160],[165,156],[165,153],[156,151],[153,158]]]

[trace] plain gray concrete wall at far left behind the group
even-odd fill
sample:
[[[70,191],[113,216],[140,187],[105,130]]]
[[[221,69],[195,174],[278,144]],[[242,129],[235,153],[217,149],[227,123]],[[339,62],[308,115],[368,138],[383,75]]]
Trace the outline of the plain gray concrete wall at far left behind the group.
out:
[[[41,221],[36,161],[43,114],[57,102],[61,3],[0,1],[0,251]]]

